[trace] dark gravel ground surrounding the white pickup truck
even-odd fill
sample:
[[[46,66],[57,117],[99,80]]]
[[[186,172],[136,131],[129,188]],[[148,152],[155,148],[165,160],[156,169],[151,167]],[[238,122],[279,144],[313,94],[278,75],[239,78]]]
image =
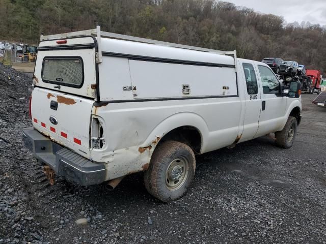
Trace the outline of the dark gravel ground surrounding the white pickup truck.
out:
[[[0,64],[0,243],[326,243],[326,108],[311,104],[316,95],[303,94],[292,148],[262,137],[198,156],[192,188],[166,204],[142,173],[113,192],[60,177],[50,186],[21,140],[31,83]]]

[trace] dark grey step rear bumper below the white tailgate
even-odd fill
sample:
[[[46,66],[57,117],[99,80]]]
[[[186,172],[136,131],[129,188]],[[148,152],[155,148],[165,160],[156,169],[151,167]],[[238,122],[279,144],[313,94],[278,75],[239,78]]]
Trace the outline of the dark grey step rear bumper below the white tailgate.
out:
[[[40,165],[48,165],[58,175],[82,186],[100,184],[106,168],[94,163],[43,136],[33,127],[23,129],[23,141]]]

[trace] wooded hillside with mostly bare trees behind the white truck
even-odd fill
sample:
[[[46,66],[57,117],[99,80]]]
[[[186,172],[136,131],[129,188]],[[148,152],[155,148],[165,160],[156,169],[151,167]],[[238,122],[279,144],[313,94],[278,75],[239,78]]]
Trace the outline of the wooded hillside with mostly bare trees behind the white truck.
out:
[[[219,50],[279,56],[326,71],[326,29],[214,0],[0,0],[2,38],[37,42],[41,32],[100,25],[104,31]]]

